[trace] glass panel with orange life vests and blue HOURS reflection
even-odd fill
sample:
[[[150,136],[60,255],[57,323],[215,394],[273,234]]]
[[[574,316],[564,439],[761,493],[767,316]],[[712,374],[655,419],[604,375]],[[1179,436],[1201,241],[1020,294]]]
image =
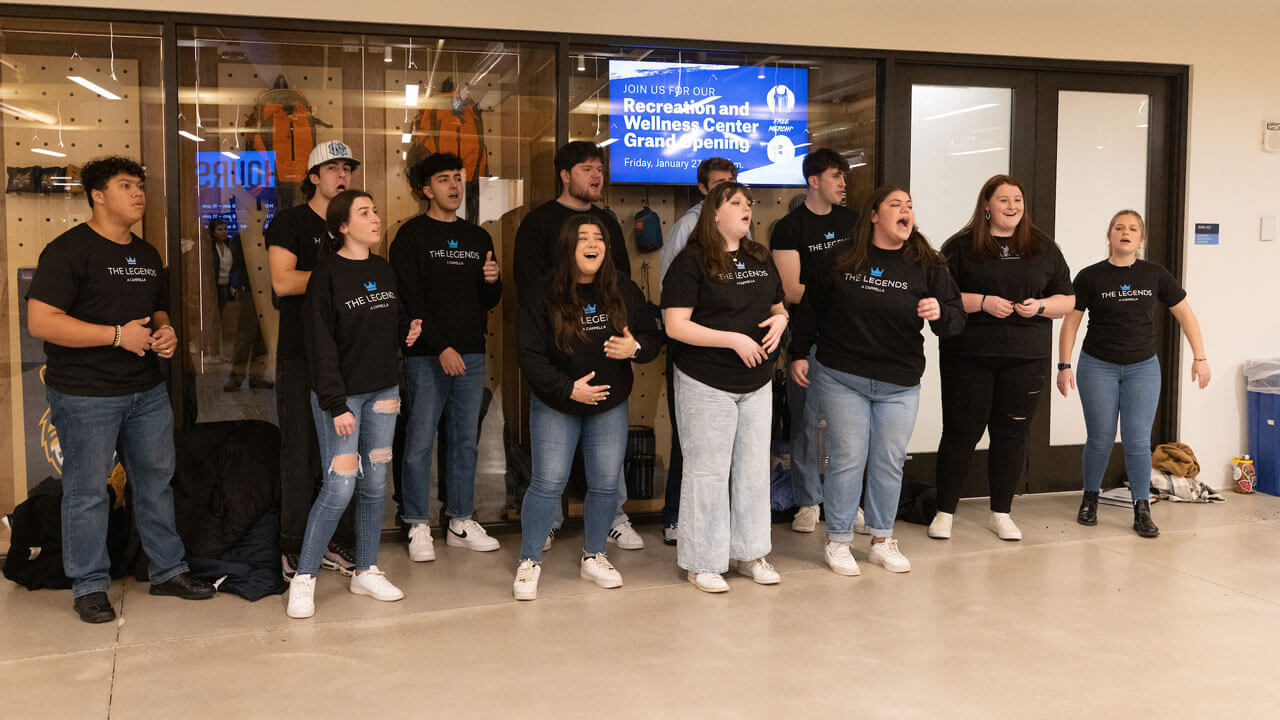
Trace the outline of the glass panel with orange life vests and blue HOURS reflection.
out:
[[[504,480],[504,407],[508,395],[518,396],[511,249],[520,219],[552,192],[529,178],[539,177],[531,169],[536,158],[549,165],[554,152],[553,50],[444,37],[180,27],[178,60],[189,419],[276,421],[271,384],[282,328],[264,231],[275,213],[306,201],[300,182],[314,147],[340,140],[360,160],[352,187],[374,196],[384,256],[403,222],[426,210],[407,182],[408,167],[433,151],[457,152],[466,176],[460,214],[490,233],[507,284],[504,302],[488,319],[490,400],[476,473],[477,519],[509,516],[517,491],[508,492]],[[219,295],[211,220],[227,223],[243,249],[247,287],[232,299]]]

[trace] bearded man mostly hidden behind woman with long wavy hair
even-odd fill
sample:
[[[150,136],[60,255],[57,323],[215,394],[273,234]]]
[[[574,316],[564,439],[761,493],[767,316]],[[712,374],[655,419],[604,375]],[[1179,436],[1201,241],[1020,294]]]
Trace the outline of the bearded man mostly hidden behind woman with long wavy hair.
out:
[[[566,142],[556,151],[556,182],[559,196],[530,210],[516,229],[515,273],[516,296],[524,301],[539,279],[550,275],[556,258],[556,242],[564,223],[577,214],[600,220],[609,238],[609,254],[618,273],[631,277],[631,259],[627,255],[622,225],[613,213],[593,205],[604,196],[604,151],[594,142],[579,140]],[[576,464],[576,461],[575,461]],[[609,542],[623,550],[640,550],[644,539],[631,528],[622,503],[627,501],[627,486],[618,482],[618,509],[609,530]],[[559,521],[556,528],[559,527]],[[548,538],[548,543],[550,538]]]

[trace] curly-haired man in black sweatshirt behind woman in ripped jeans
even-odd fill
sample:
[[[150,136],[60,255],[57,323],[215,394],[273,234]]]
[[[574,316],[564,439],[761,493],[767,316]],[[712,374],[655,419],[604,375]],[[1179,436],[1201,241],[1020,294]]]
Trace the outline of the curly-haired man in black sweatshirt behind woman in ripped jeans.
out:
[[[486,313],[502,301],[502,278],[493,238],[458,218],[462,159],[436,152],[413,165],[415,186],[431,202],[396,233],[390,249],[399,295],[410,318],[422,320],[422,336],[404,352],[404,450],[401,465],[402,518],[410,525],[408,555],[435,560],[431,542],[431,447],[445,418],[440,456],[445,539],[481,552],[498,541],[472,518],[479,455],[480,405],[485,380]]]

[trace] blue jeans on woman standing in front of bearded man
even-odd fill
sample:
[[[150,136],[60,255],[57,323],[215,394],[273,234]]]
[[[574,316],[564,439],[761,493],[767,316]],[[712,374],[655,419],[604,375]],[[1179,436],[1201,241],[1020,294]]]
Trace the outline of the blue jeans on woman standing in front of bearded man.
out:
[[[541,561],[543,543],[559,516],[561,495],[579,442],[586,464],[582,552],[604,552],[627,455],[627,404],[584,418],[548,407],[530,396],[529,436],[534,477],[520,510],[520,559]]]

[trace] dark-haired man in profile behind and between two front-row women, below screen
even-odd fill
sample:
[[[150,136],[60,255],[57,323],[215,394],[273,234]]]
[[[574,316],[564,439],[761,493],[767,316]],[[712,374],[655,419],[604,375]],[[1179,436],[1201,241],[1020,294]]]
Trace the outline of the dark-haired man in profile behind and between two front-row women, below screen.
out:
[[[845,206],[845,176],[849,161],[835,150],[822,147],[805,155],[804,204],[787,213],[769,237],[773,264],[782,275],[787,305],[804,296],[804,284],[832,247],[849,240],[858,214]],[[795,357],[795,360],[800,360]],[[805,388],[787,374],[787,406],[791,411],[791,495],[799,509],[791,529],[812,533],[818,525],[822,483],[818,479],[815,438],[804,427]],[[860,525],[859,525],[860,527]]]

